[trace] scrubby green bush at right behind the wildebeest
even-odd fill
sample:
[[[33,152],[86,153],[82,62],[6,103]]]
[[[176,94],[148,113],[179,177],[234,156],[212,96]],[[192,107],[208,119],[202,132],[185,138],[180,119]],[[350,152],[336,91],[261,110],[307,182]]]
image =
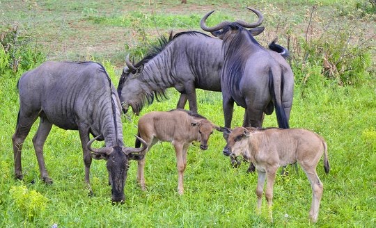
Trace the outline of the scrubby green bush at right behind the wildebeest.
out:
[[[339,26],[332,20],[323,29],[313,28],[313,13],[306,28],[305,37],[292,37],[292,67],[297,83],[307,83],[309,76],[321,74],[325,79],[340,86],[360,85],[375,74],[372,68],[372,52],[375,47],[368,39],[357,38],[357,26]],[[312,22],[311,22],[312,19]],[[356,22],[354,22],[356,24]],[[355,34],[355,35],[354,35]],[[290,37],[289,37],[290,38]],[[318,72],[320,70],[320,72]]]

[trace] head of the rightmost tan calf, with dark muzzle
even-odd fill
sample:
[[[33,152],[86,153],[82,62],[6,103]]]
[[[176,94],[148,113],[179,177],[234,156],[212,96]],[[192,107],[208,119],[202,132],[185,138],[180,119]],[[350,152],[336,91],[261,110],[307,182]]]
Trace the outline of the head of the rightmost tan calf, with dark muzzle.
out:
[[[224,155],[232,157],[244,156],[244,152],[249,148],[246,138],[251,136],[251,131],[249,130],[252,128],[235,127],[235,129],[231,130],[223,127],[221,129],[224,131],[225,138],[227,138],[227,144],[223,150]]]

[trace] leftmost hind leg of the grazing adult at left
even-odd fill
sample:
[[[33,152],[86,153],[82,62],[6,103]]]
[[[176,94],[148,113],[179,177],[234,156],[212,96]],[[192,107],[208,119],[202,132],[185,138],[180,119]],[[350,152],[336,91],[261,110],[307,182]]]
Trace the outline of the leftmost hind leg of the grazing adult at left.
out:
[[[22,113],[24,112],[19,111],[18,113],[17,127],[15,133],[12,136],[16,179],[23,179],[21,165],[22,145],[24,144],[26,136],[29,134],[31,126],[33,126],[33,123],[36,121],[36,118],[38,117],[38,112],[33,113],[33,115],[29,116],[23,115]]]

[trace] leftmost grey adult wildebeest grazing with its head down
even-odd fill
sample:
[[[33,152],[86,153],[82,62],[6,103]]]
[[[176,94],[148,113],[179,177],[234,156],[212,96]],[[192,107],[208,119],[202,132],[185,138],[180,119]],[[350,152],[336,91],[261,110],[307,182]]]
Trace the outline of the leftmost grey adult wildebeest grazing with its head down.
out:
[[[45,168],[43,145],[52,124],[78,130],[84,151],[85,181],[90,187],[91,158],[107,160],[113,202],[123,202],[129,160],[139,160],[143,147],[125,147],[120,119],[121,106],[115,87],[99,63],[46,62],[24,73],[19,79],[19,112],[13,140],[15,177],[22,179],[21,150],[33,122],[39,127],[33,137],[41,178],[51,184]],[[91,148],[93,140],[104,140],[106,147]],[[89,150],[90,149],[90,150]],[[93,152],[93,153],[91,153]]]

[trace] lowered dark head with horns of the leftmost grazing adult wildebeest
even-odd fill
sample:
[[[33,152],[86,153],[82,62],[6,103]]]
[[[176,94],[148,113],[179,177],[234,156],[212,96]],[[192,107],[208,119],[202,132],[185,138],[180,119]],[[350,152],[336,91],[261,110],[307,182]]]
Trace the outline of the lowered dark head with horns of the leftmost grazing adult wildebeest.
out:
[[[141,141],[143,147],[131,148],[131,147],[103,147],[100,149],[94,149],[91,144],[99,136],[91,139],[87,147],[92,152],[91,156],[95,159],[104,159],[107,161],[107,170],[109,172],[109,182],[111,184],[111,200],[112,202],[124,202],[124,186],[127,179],[127,171],[129,168],[130,160],[141,160],[143,154],[140,154],[148,146],[146,142],[136,136]]]

